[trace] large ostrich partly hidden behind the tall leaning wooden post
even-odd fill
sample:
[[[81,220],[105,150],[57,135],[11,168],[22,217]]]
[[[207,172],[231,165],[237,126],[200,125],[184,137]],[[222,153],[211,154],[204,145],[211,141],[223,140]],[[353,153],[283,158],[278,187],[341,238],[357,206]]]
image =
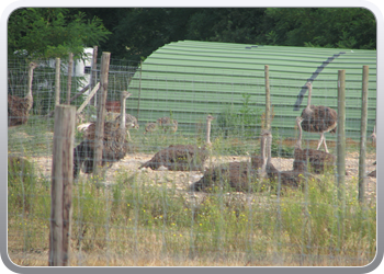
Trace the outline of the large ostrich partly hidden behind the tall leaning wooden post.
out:
[[[102,165],[123,159],[127,152],[126,141],[126,118],[125,118],[125,100],[131,93],[123,91],[121,94],[121,114],[120,118],[114,122],[105,122],[103,136]],[[83,163],[84,173],[93,172],[94,138],[95,126],[90,126],[87,130],[86,139],[74,149],[74,178],[79,174]]]

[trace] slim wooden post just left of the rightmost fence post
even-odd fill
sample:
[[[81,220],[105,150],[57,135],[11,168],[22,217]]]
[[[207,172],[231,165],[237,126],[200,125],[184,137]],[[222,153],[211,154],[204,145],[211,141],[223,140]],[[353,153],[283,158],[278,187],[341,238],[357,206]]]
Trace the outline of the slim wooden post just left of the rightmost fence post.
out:
[[[346,70],[338,71],[337,176],[342,212],[346,203]]]

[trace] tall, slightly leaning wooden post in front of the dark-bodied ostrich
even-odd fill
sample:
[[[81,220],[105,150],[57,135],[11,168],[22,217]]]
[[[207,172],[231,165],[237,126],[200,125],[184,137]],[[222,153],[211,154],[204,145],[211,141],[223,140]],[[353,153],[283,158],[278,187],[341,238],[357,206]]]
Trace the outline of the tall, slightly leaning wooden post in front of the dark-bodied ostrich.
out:
[[[108,93],[108,73],[110,69],[111,53],[103,53],[101,57],[100,71],[100,98],[98,100],[98,119],[94,133],[94,160],[93,174],[98,174],[98,167],[101,165],[103,153],[103,135],[104,135],[104,119],[105,119],[105,103]]]

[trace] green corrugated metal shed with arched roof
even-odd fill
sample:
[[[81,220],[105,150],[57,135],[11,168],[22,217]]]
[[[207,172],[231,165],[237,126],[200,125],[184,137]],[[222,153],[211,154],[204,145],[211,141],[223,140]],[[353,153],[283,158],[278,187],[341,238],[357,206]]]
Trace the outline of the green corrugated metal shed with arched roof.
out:
[[[347,137],[358,138],[361,115],[362,67],[370,68],[369,134],[376,115],[376,50],[258,46],[230,43],[182,41],[170,43],[151,54],[142,72],[136,71],[128,91],[128,111],[138,113],[142,124],[160,116],[179,121],[180,130],[195,130],[194,123],[206,114],[217,115],[227,104],[241,109],[244,96],[264,111],[264,65],[269,65],[273,129],[294,137],[294,110],[302,87],[313,79],[312,104],[337,110],[338,70],[346,70]],[[304,90],[302,91],[304,92]],[[137,112],[139,109],[139,112]],[[327,139],[331,138],[327,135]],[[317,135],[305,136],[317,139]],[[335,138],[335,137],[334,137]]]

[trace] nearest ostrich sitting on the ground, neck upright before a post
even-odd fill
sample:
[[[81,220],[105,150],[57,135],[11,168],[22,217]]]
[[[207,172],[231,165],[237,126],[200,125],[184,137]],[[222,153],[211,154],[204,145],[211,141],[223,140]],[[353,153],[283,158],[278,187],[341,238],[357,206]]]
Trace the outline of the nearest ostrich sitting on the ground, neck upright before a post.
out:
[[[204,172],[202,179],[191,185],[191,191],[207,191],[215,185],[222,185],[227,181],[236,191],[251,191],[250,182],[257,178],[263,178],[266,173],[267,156],[266,140],[268,132],[263,132],[260,141],[260,156],[252,156],[249,162],[229,162]]]

